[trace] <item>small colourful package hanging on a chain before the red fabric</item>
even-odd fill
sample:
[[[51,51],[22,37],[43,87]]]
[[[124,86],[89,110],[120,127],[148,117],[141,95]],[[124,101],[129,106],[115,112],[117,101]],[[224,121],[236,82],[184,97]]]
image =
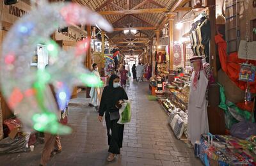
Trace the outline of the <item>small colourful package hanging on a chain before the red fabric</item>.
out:
[[[253,82],[255,80],[255,66],[242,64],[239,73],[239,80]]]

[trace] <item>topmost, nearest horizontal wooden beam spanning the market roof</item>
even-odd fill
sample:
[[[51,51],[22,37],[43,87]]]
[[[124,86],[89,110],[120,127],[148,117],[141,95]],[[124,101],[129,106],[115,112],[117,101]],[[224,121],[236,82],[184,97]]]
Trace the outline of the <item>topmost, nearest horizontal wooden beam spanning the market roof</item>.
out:
[[[166,8],[151,8],[140,10],[117,10],[117,11],[98,11],[100,15],[132,15],[132,14],[144,14],[144,13],[164,13],[168,12]]]

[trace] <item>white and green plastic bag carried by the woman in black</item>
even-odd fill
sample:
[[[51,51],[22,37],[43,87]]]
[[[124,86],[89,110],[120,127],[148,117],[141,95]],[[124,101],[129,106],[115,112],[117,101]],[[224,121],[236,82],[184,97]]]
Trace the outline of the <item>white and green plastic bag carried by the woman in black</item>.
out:
[[[131,101],[124,100],[122,103],[121,109],[119,109],[120,119],[118,120],[118,124],[125,124],[131,121]]]

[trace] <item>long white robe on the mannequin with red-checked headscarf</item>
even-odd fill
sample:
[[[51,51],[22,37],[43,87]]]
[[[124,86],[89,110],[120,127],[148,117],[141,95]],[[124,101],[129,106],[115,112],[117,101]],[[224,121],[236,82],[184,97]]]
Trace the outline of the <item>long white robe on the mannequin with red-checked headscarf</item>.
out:
[[[191,80],[194,80],[195,71],[192,73]],[[209,132],[207,105],[205,92],[208,86],[208,79],[204,72],[200,72],[200,79],[196,88],[193,88],[193,81],[189,91],[188,103],[188,139],[192,144],[200,141],[201,134]]]

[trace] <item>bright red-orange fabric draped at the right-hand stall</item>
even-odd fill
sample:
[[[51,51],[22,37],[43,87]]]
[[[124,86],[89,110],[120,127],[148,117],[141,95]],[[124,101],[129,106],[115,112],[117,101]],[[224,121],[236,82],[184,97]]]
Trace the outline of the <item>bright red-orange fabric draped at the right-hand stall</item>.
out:
[[[227,43],[223,40],[221,34],[215,36],[215,42],[218,45],[218,52],[220,56],[220,63],[222,70],[227,73],[228,77],[236,83],[236,85],[245,91],[247,83],[239,80],[240,63],[245,63],[245,59],[239,59],[237,52],[227,55]],[[256,61],[249,61],[249,63],[256,65]],[[254,82],[250,82],[251,93],[256,93],[256,78]]]

